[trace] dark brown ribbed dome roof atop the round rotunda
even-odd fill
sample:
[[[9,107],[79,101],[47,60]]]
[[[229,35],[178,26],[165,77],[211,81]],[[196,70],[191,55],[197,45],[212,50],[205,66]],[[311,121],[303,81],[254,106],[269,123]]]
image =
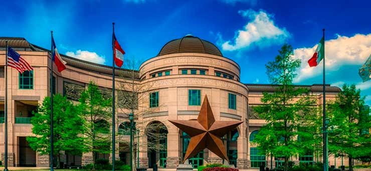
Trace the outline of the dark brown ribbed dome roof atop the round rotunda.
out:
[[[181,39],[167,42],[157,56],[176,53],[203,53],[216,56],[223,56],[220,50],[209,41],[201,40],[192,35],[186,35]]]

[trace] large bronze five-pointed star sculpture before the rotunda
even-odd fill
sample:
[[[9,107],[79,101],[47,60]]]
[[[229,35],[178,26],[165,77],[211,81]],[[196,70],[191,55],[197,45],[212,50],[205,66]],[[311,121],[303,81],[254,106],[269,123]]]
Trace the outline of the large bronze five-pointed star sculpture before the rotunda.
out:
[[[184,163],[205,148],[229,162],[221,137],[243,121],[216,121],[208,97],[205,96],[197,120],[169,120],[169,122],[191,136],[182,162]]]

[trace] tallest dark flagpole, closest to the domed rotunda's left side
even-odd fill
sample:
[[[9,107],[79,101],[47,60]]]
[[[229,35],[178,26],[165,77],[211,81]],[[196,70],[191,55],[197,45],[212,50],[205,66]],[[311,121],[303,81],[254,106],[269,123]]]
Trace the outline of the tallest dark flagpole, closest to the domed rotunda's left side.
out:
[[[112,34],[115,33],[115,23],[112,23]],[[115,170],[115,43],[112,42],[112,170]]]

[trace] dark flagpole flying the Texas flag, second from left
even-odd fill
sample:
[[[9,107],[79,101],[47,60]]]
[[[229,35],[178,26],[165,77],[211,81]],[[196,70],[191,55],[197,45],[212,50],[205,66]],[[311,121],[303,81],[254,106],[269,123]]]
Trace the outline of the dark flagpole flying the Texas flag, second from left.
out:
[[[53,153],[54,153],[54,143],[53,143],[53,31],[50,31],[52,36],[51,42],[51,70],[50,70],[50,170],[53,171]]]

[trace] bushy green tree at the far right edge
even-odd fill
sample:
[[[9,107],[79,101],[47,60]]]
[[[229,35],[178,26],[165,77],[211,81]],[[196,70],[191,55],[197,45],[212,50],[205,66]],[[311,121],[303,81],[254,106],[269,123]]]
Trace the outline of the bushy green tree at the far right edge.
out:
[[[368,129],[371,127],[368,110],[362,112],[364,98],[355,85],[346,85],[337,94],[329,108],[329,151],[337,156],[349,158],[349,170],[352,170],[352,159],[370,154],[371,138]],[[366,131],[366,132],[364,132]]]

